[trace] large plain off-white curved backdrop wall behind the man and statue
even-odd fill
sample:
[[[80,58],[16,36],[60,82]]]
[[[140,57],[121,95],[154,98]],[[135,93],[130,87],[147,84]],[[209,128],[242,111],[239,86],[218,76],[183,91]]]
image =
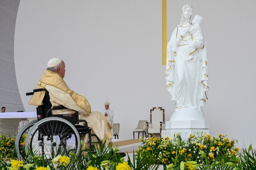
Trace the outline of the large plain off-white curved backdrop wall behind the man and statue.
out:
[[[172,2],[172,3],[171,3]],[[254,5],[249,4],[254,3]],[[208,43],[209,100],[204,106],[214,136],[256,145],[254,107],[254,15],[256,2],[196,1]],[[168,40],[186,1],[167,1]],[[221,4],[221,5],[220,5]],[[248,5],[247,5],[248,4]],[[238,22],[236,22],[236,20]],[[248,25],[250,27],[248,27]],[[162,4],[155,0],[21,1],[15,29],[15,68],[26,111],[31,92],[51,57],[66,63],[65,81],[92,110],[108,100],[119,138],[132,138],[138,120],[155,106],[170,119],[174,105],[165,90],[162,65]]]

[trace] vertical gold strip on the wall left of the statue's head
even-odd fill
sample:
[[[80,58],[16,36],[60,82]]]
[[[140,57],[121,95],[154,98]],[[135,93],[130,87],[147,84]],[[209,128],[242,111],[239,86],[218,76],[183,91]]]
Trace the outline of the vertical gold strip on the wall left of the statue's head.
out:
[[[167,17],[166,17],[166,0],[162,0],[162,65],[166,65],[167,49]]]

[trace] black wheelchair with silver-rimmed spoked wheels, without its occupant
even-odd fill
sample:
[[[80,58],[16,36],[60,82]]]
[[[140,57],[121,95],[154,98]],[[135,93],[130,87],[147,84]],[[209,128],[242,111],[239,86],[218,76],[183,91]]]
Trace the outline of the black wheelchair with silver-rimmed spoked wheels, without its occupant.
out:
[[[34,89],[26,95],[33,95],[36,92],[45,91],[43,105],[38,106],[37,120],[28,122],[21,128],[16,136],[15,148],[18,159],[26,160],[28,153],[41,155],[44,159],[52,159],[57,155],[74,153],[79,157],[81,153],[81,137],[89,134],[89,148],[87,151],[94,151],[92,137],[86,120],[79,120],[78,112],[72,114],[52,115],[52,110],[68,109],[64,106],[53,106],[50,103],[49,92],[46,89]],[[85,126],[77,125],[83,122]],[[24,143],[25,141],[25,143]]]

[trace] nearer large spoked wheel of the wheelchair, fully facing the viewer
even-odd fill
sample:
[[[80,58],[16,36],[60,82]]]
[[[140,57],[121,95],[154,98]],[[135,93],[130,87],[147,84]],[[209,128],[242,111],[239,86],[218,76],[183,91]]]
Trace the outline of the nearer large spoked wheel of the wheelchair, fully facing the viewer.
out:
[[[47,117],[38,121],[28,132],[30,139],[25,142],[26,152],[41,155],[52,160],[57,155],[80,154],[81,142],[78,131],[69,121],[60,117]],[[32,152],[32,153],[31,153]]]

